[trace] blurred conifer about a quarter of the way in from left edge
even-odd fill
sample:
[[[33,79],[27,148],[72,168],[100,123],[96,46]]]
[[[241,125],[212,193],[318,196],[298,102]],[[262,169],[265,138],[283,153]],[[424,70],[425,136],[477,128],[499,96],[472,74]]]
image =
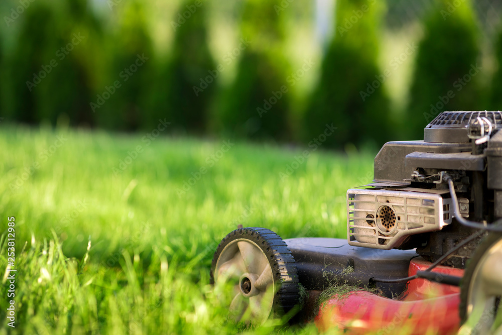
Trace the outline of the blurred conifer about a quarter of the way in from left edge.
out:
[[[116,21],[111,22],[104,46],[106,76],[94,94],[91,109],[101,126],[134,131],[145,117],[144,96],[155,89],[153,46],[140,1],[121,3],[113,11]]]

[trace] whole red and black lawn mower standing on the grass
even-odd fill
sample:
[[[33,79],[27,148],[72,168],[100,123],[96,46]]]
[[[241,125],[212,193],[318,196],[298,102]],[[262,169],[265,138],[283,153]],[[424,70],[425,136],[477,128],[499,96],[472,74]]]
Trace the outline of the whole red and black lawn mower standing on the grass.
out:
[[[502,113],[447,111],[424,140],[386,143],[349,189],[347,239],[238,228],[211,280],[230,315],[280,315],[349,333],[502,333]],[[321,300],[321,303],[319,303]]]

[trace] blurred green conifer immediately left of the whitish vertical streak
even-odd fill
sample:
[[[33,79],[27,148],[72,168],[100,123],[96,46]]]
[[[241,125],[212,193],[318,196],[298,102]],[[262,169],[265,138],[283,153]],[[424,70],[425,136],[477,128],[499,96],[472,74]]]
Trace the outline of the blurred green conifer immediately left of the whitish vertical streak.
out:
[[[283,55],[285,15],[279,0],[248,0],[242,8],[241,59],[223,93],[220,130],[244,138],[289,139],[290,66]]]

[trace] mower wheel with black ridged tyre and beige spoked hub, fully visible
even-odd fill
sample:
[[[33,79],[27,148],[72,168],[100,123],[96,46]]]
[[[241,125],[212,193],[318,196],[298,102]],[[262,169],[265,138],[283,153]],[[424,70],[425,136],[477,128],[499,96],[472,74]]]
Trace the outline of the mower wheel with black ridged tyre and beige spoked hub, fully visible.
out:
[[[228,234],[214,254],[211,280],[231,282],[229,311],[237,322],[262,324],[299,301],[295,259],[286,243],[264,228],[241,228]]]

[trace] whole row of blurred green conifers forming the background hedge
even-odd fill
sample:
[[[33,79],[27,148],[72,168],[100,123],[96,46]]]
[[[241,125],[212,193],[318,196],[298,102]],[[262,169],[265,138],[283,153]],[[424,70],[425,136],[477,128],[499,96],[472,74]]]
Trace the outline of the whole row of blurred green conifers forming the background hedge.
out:
[[[422,138],[425,124],[434,117],[431,104],[449,90],[455,96],[434,113],[484,109],[488,103],[499,109],[500,69],[491,86],[483,87],[491,92],[487,103],[477,74],[461,92],[455,90],[458,78],[480,58],[478,24],[468,1],[454,7],[441,0],[425,15],[406,110],[391,104],[386,70],[379,65],[385,3],[336,2],[333,36],[321,51],[318,80],[300,98],[288,74],[299,63],[291,54],[291,40],[306,5],[281,0],[226,4],[234,11],[228,16],[237,30],[233,45],[240,48],[234,68],[214,59],[215,48],[222,45],[211,40],[214,4],[29,2],[0,28],[1,116],[32,125],[55,125],[63,117],[72,126],[117,131],[150,131],[159,119],[167,119],[171,132],[304,144],[333,123],[337,130],[324,147],[342,148],[399,139],[396,129],[403,136]],[[10,17],[18,5],[6,0],[0,9]],[[155,19],[155,11],[163,10],[166,14]],[[305,31],[312,33],[311,28]],[[227,65],[234,75],[222,73]]]

